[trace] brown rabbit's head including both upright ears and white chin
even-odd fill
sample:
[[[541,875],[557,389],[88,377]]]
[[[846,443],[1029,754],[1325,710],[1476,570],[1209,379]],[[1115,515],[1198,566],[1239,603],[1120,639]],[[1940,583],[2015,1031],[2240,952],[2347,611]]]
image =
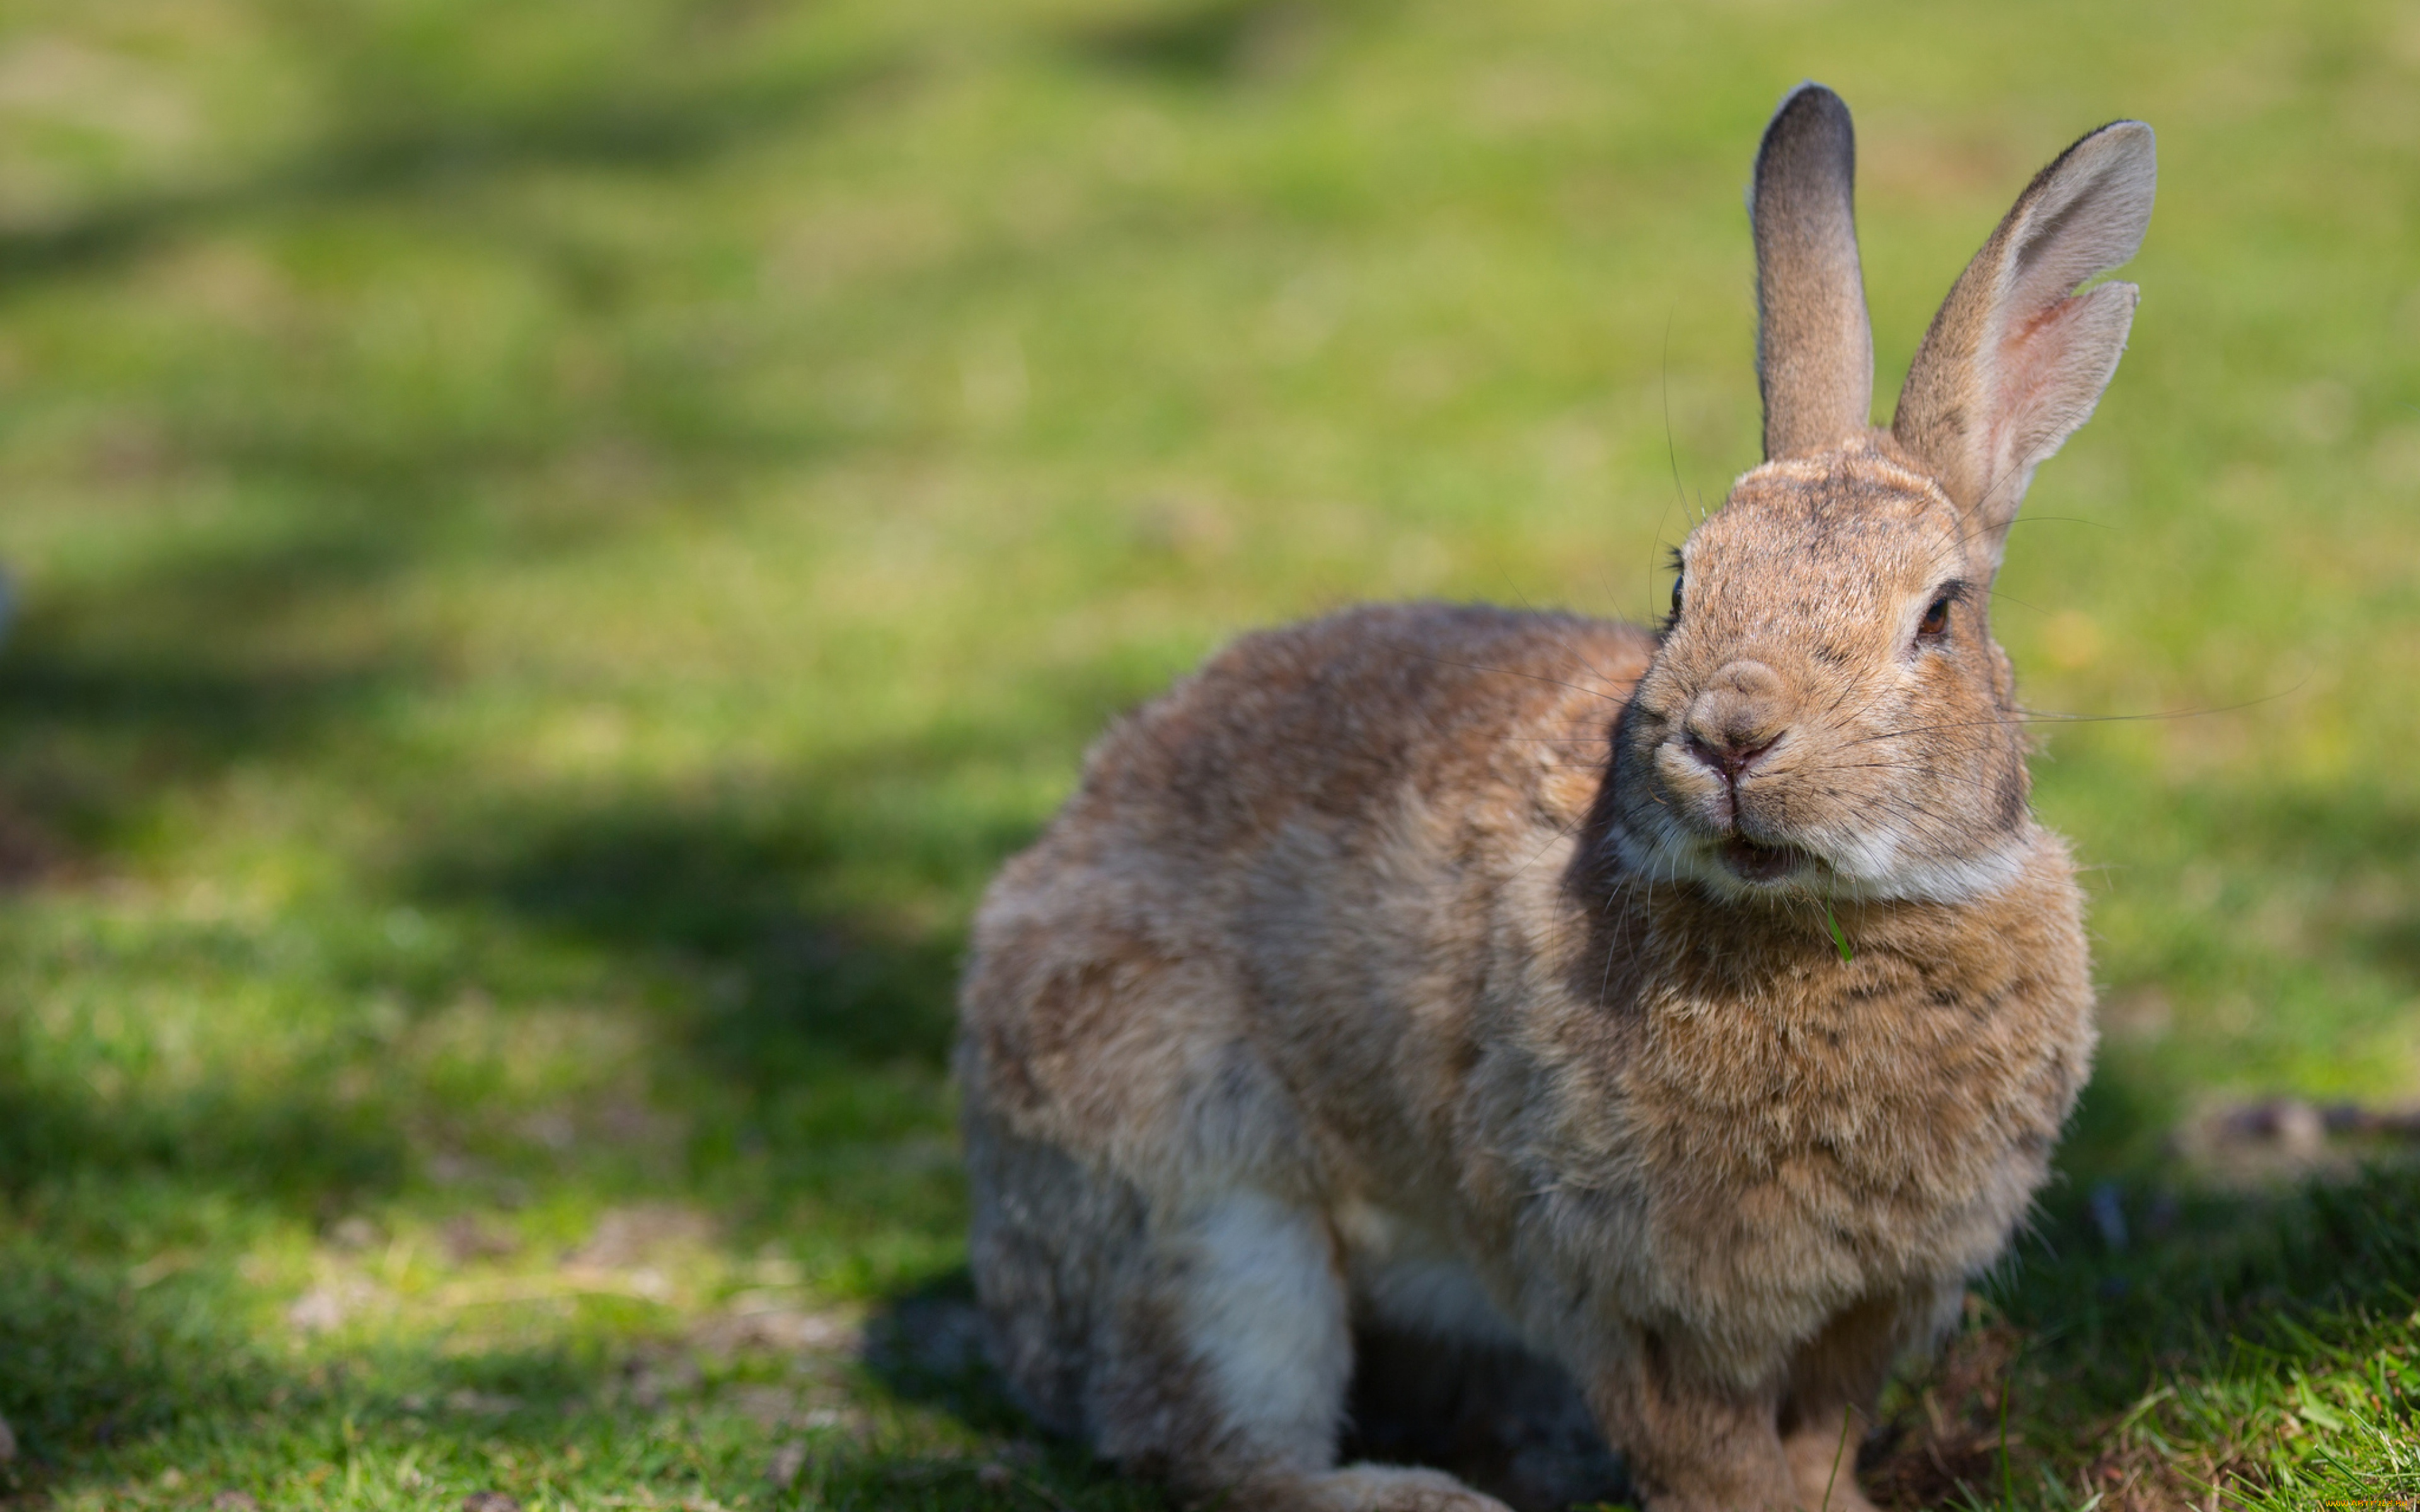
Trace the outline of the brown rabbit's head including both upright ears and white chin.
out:
[[[1679,549],[1663,648],[1614,731],[1626,871],[1721,895],[1951,902],[2033,844],[1992,576],[2033,469],[2084,423],[2137,290],[2076,288],[2151,215],[2151,128],[2045,167],[1951,288],[1888,431],[1849,111],[1800,85],[1757,152],[1767,462]]]

